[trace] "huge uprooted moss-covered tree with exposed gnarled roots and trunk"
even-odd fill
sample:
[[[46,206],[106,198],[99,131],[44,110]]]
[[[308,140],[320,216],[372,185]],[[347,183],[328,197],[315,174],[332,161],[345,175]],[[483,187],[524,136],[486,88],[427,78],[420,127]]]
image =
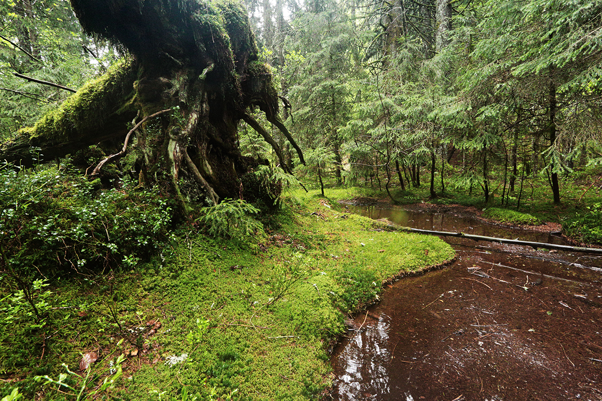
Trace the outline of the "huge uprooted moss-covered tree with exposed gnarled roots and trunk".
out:
[[[72,0],[72,6],[85,31],[131,57],[0,145],[0,159],[28,164],[31,146],[47,159],[63,156],[123,138],[135,117],[171,109],[137,130],[135,168],[145,183],[178,196],[204,193],[214,202],[258,191],[241,179],[258,165],[238,148],[238,122],[248,108],[259,106],[298,149],[278,118],[270,69],[258,61],[239,2]]]

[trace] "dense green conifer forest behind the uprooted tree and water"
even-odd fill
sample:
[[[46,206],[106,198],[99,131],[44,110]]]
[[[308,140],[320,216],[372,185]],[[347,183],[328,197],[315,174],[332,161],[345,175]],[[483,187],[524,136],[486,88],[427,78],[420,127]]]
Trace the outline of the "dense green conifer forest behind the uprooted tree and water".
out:
[[[495,181],[501,203],[541,177],[559,203],[562,180],[601,160],[598,1],[246,6],[286,124],[306,152],[302,175],[386,191],[430,182],[431,197],[451,186],[482,191],[485,201]],[[65,88],[105,72],[120,50],[85,35],[65,0],[0,7],[0,135],[8,138],[57,108]],[[271,133],[288,167],[299,166],[287,139]],[[276,161],[246,124],[239,138],[247,154]]]

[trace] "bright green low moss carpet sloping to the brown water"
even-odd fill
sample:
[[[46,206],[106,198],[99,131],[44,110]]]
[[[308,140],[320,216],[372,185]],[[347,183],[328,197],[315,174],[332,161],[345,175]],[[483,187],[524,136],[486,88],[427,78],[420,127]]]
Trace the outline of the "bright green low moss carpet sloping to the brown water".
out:
[[[12,334],[0,337],[0,394],[19,387],[27,399],[77,399],[65,393],[85,387],[102,399],[319,399],[346,314],[373,302],[384,281],[454,256],[436,237],[379,230],[315,192],[262,221],[265,231],[245,240],[179,228],[131,271],[33,289],[50,305],[50,329],[16,329],[28,320],[15,315]],[[3,284],[2,306],[16,305]],[[15,353],[26,336],[36,346]],[[57,384],[61,373],[73,390]]]

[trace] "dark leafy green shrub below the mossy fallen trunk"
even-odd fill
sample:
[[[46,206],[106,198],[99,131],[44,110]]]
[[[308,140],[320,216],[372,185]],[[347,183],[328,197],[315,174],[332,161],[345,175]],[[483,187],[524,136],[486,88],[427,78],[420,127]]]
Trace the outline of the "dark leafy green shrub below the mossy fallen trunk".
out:
[[[171,218],[152,191],[98,191],[64,167],[0,167],[0,236],[21,275],[131,266],[167,239]]]

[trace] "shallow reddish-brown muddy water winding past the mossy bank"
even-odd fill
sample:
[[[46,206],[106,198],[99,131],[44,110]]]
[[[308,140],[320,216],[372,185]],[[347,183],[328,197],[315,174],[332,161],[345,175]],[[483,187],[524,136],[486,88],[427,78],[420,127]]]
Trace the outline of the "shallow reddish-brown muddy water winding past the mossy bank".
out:
[[[535,242],[451,213],[352,207],[397,224]],[[350,322],[335,400],[602,400],[602,260],[444,238],[458,260],[405,277]]]

